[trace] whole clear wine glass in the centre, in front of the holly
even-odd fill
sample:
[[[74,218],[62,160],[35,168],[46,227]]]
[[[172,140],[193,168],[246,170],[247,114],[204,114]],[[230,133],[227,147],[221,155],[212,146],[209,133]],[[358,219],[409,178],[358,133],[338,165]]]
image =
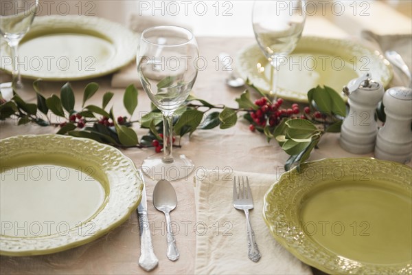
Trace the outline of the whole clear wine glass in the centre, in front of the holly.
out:
[[[185,155],[173,154],[173,115],[189,96],[196,80],[198,47],[185,28],[159,26],[141,34],[137,72],[141,85],[163,115],[163,157],[144,160],[142,168],[152,179],[187,177],[194,164]]]

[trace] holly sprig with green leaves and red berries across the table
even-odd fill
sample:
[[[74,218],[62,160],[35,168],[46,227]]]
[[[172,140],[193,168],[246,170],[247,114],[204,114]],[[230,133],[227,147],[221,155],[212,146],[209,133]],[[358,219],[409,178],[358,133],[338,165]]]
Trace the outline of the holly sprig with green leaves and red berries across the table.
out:
[[[161,111],[152,104],[151,111],[133,120],[133,114],[138,105],[138,91],[130,85],[124,91],[124,109],[128,115],[113,114],[113,107],[108,104],[113,93],[107,91],[102,96],[100,106],[87,104],[99,89],[97,83],[89,83],[84,87],[81,108],[76,110],[76,98],[70,83],[60,89],[60,95],[52,94],[45,98],[41,94],[39,80],[34,81],[36,103],[25,102],[19,94],[14,93],[9,101],[1,98],[0,120],[17,118],[18,125],[34,123],[40,126],[58,127],[57,134],[86,137],[98,142],[117,147],[155,147],[161,151],[163,144],[163,120]],[[276,140],[279,146],[290,155],[285,168],[299,165],[308,159],[324,133],[339,132],[343,118],[346,115],[346,104],[336,91],[330,87],[316,87],[308,91],[309,105],[303,111],[299,104],[283,108],[284,100],[272,102],[268,96],[253,84],[239,98],[238,108],[227,107],[224,104],[211,104],[201,98],[190,95],[185,104],[176,110],[173,118],[174,134],[180,138],[192,135],[198,129],[208,130],[219,127],[229,129],[236,125],[239,118],[249,122],[251,131],[266,135],[268,142]],[[262,97],[251,100],[249,91],[257,91]],[[52,121],[51,114],[54,118]],[[140,139],[132,128],[135,123],[148,133]]]

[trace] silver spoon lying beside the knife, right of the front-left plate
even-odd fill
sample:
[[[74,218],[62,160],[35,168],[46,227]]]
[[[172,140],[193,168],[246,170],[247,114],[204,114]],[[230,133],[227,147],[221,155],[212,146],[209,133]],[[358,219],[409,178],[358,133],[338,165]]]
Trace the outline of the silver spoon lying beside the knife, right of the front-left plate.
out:
[[[176,240],[174,239],[172,232],[172,224],[170,223],[170,211],[174,210],[177,206],[176,192],[172,184],[165,179],[159,180],[153,190],[153,205],[155,208],[165,213],[166,218],[166,240],[168,242],[168,250],[166,255],[170,261],[176,261],[179,259],[179,251],[176,248]]]

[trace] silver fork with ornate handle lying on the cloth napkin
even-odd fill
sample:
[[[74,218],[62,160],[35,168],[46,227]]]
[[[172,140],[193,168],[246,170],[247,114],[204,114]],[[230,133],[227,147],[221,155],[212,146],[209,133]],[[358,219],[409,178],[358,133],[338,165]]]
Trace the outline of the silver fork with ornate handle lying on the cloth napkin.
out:
[[[246,215],[246,230],[247,230],[247,247],[248,256],[254,262],[260,260],[260,252],[258,243],[255,241],[255,232],[252,229],[249,210],[253,209],[253,199],[249,179],[246,177],[247,186],[244,186],[244,178],[242,177],[242,185],[240,185],[240,177],[236,184],[236,177],[233,177],[233,206],[238,210],[243,210]]]

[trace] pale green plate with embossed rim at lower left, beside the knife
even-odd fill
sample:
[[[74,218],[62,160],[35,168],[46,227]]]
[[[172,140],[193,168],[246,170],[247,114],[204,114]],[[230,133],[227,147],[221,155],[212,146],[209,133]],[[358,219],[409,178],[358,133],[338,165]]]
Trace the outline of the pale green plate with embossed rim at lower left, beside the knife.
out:
[[[19,135],[0,141],[0,254],[29,256],[88,243],[141,199],[135,164],[93,140]]]

